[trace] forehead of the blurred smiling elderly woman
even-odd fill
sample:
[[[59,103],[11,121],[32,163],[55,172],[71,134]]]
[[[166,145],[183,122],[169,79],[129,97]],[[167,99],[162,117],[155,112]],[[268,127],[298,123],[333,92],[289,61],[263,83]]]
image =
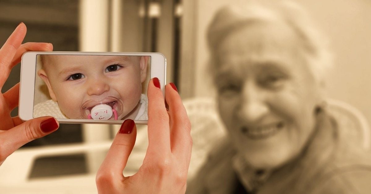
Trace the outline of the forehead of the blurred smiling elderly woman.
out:
[[[300,38],[285,23],[259,22],[240,27],[214,50],[217,71],[242,70],[248,65],[303,64]]]

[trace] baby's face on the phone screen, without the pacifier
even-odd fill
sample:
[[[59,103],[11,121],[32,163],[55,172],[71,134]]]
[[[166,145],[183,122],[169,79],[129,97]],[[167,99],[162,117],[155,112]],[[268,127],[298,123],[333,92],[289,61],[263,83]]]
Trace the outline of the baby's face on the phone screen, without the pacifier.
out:
[[[39,76],[68,118],[82,119],[84,102],[107,96],[121,99],[123,111],[119,119],[136,116],[148,57],[49,55],[44,59]]]

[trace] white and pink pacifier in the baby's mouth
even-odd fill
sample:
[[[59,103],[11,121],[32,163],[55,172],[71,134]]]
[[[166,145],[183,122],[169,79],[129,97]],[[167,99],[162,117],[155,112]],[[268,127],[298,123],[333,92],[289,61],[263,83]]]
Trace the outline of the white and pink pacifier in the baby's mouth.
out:
[[[82,104],[80,112],[84,119],[117,120],[122,114],[122,101],[112,96],[99,101],[88,100]]]

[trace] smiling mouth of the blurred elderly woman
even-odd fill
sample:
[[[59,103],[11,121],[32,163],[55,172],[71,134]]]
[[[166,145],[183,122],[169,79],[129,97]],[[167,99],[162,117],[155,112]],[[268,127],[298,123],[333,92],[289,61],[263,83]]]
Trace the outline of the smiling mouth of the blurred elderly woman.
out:
[[[257,127],[243,126],[241,128],[241,131],[244,135],[246,135],[250,139],[265,139],[275,135],[277,132],[283,129],[284,126],[285,124],[283,122]]]

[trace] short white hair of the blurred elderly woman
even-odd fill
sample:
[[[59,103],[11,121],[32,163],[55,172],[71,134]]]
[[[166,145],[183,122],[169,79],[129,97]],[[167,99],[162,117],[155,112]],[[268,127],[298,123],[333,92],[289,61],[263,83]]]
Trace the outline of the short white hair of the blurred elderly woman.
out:
[[[332,53],[328,49],[328,40],[321,36],[318,27],[312,23],[304,10],[288,1],[278,3],[243,1],[219,9],[207,30],[211,55],[216,54],[219,44],[231,32],[256,22],[288,24],[301,40],[302,54],[313,76],[318,82],[324,81],[326,70],[331,68],[333,63]]]

